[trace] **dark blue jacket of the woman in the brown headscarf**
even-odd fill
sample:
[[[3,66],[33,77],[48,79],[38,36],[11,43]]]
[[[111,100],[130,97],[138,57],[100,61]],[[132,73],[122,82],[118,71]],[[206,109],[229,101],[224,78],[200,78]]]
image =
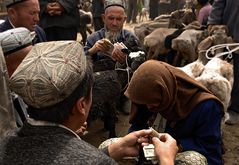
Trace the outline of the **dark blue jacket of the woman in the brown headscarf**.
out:
[[[142,110],[142,109],[141,109]],[[129,132],[148,128],[147,118],[153,113],[143,110],[138,120],[132,123]],[[165,132],[181,144],[183,151],[196,151],[207,158],[209,165],[222,165],[221,104],[206,100],[198,104],[191,113],[173,127],[169,122]]]

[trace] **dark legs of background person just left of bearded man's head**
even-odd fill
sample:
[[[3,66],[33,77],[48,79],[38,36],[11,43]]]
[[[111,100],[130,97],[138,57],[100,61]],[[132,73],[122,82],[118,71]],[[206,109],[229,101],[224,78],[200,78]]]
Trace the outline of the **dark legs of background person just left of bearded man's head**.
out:
[[[100,30],[104,27],[104,22],[101,17],[104,13],[104,0],[93,0],[91,12],[93,16],[94,29],[95,31]]]

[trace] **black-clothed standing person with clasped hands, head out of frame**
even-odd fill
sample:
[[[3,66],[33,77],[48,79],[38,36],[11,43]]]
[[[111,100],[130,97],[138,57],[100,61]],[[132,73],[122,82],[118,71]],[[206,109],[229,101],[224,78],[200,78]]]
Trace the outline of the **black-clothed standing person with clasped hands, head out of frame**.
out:
[[[79,26],[77,0],[40,0],[40,26],[48,41],[76,40]]]

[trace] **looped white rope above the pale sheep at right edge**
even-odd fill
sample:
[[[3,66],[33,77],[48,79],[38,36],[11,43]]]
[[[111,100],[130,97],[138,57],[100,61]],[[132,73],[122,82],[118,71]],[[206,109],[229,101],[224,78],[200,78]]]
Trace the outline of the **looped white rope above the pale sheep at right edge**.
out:
[[[236,46],[235,48],[233,49],[230,49],[230,46]],[[221,52],[221,53],[218,53],[216,54],[215,56],[213,57],[209,57],[209,53],[211,54],[215,54],[215,50],[217,49],[222,49],[222,48],[226,48],[226,52]],[[208,50],[206,50],[206,58],[207,59],[212,59],[214,57],[221,57],[221,56],[225,56],[227,55],[227,58],[231,59],[232,58],[232,53],[239,50],[239,43],[231,43],[231,44],[219,44],[219,45],[214,45],[212,47],[210,47]],[[201,50],[200,52],[203,52],[203,50]]]

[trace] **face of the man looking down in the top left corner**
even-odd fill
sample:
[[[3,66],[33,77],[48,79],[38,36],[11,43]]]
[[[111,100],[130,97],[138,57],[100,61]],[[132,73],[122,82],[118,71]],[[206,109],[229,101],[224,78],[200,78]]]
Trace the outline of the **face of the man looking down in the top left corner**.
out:
[[[11,22],[15,27],[26,27],[34,31],[39,21],[40,6],[38,0],[28,0],[8,9]]]

